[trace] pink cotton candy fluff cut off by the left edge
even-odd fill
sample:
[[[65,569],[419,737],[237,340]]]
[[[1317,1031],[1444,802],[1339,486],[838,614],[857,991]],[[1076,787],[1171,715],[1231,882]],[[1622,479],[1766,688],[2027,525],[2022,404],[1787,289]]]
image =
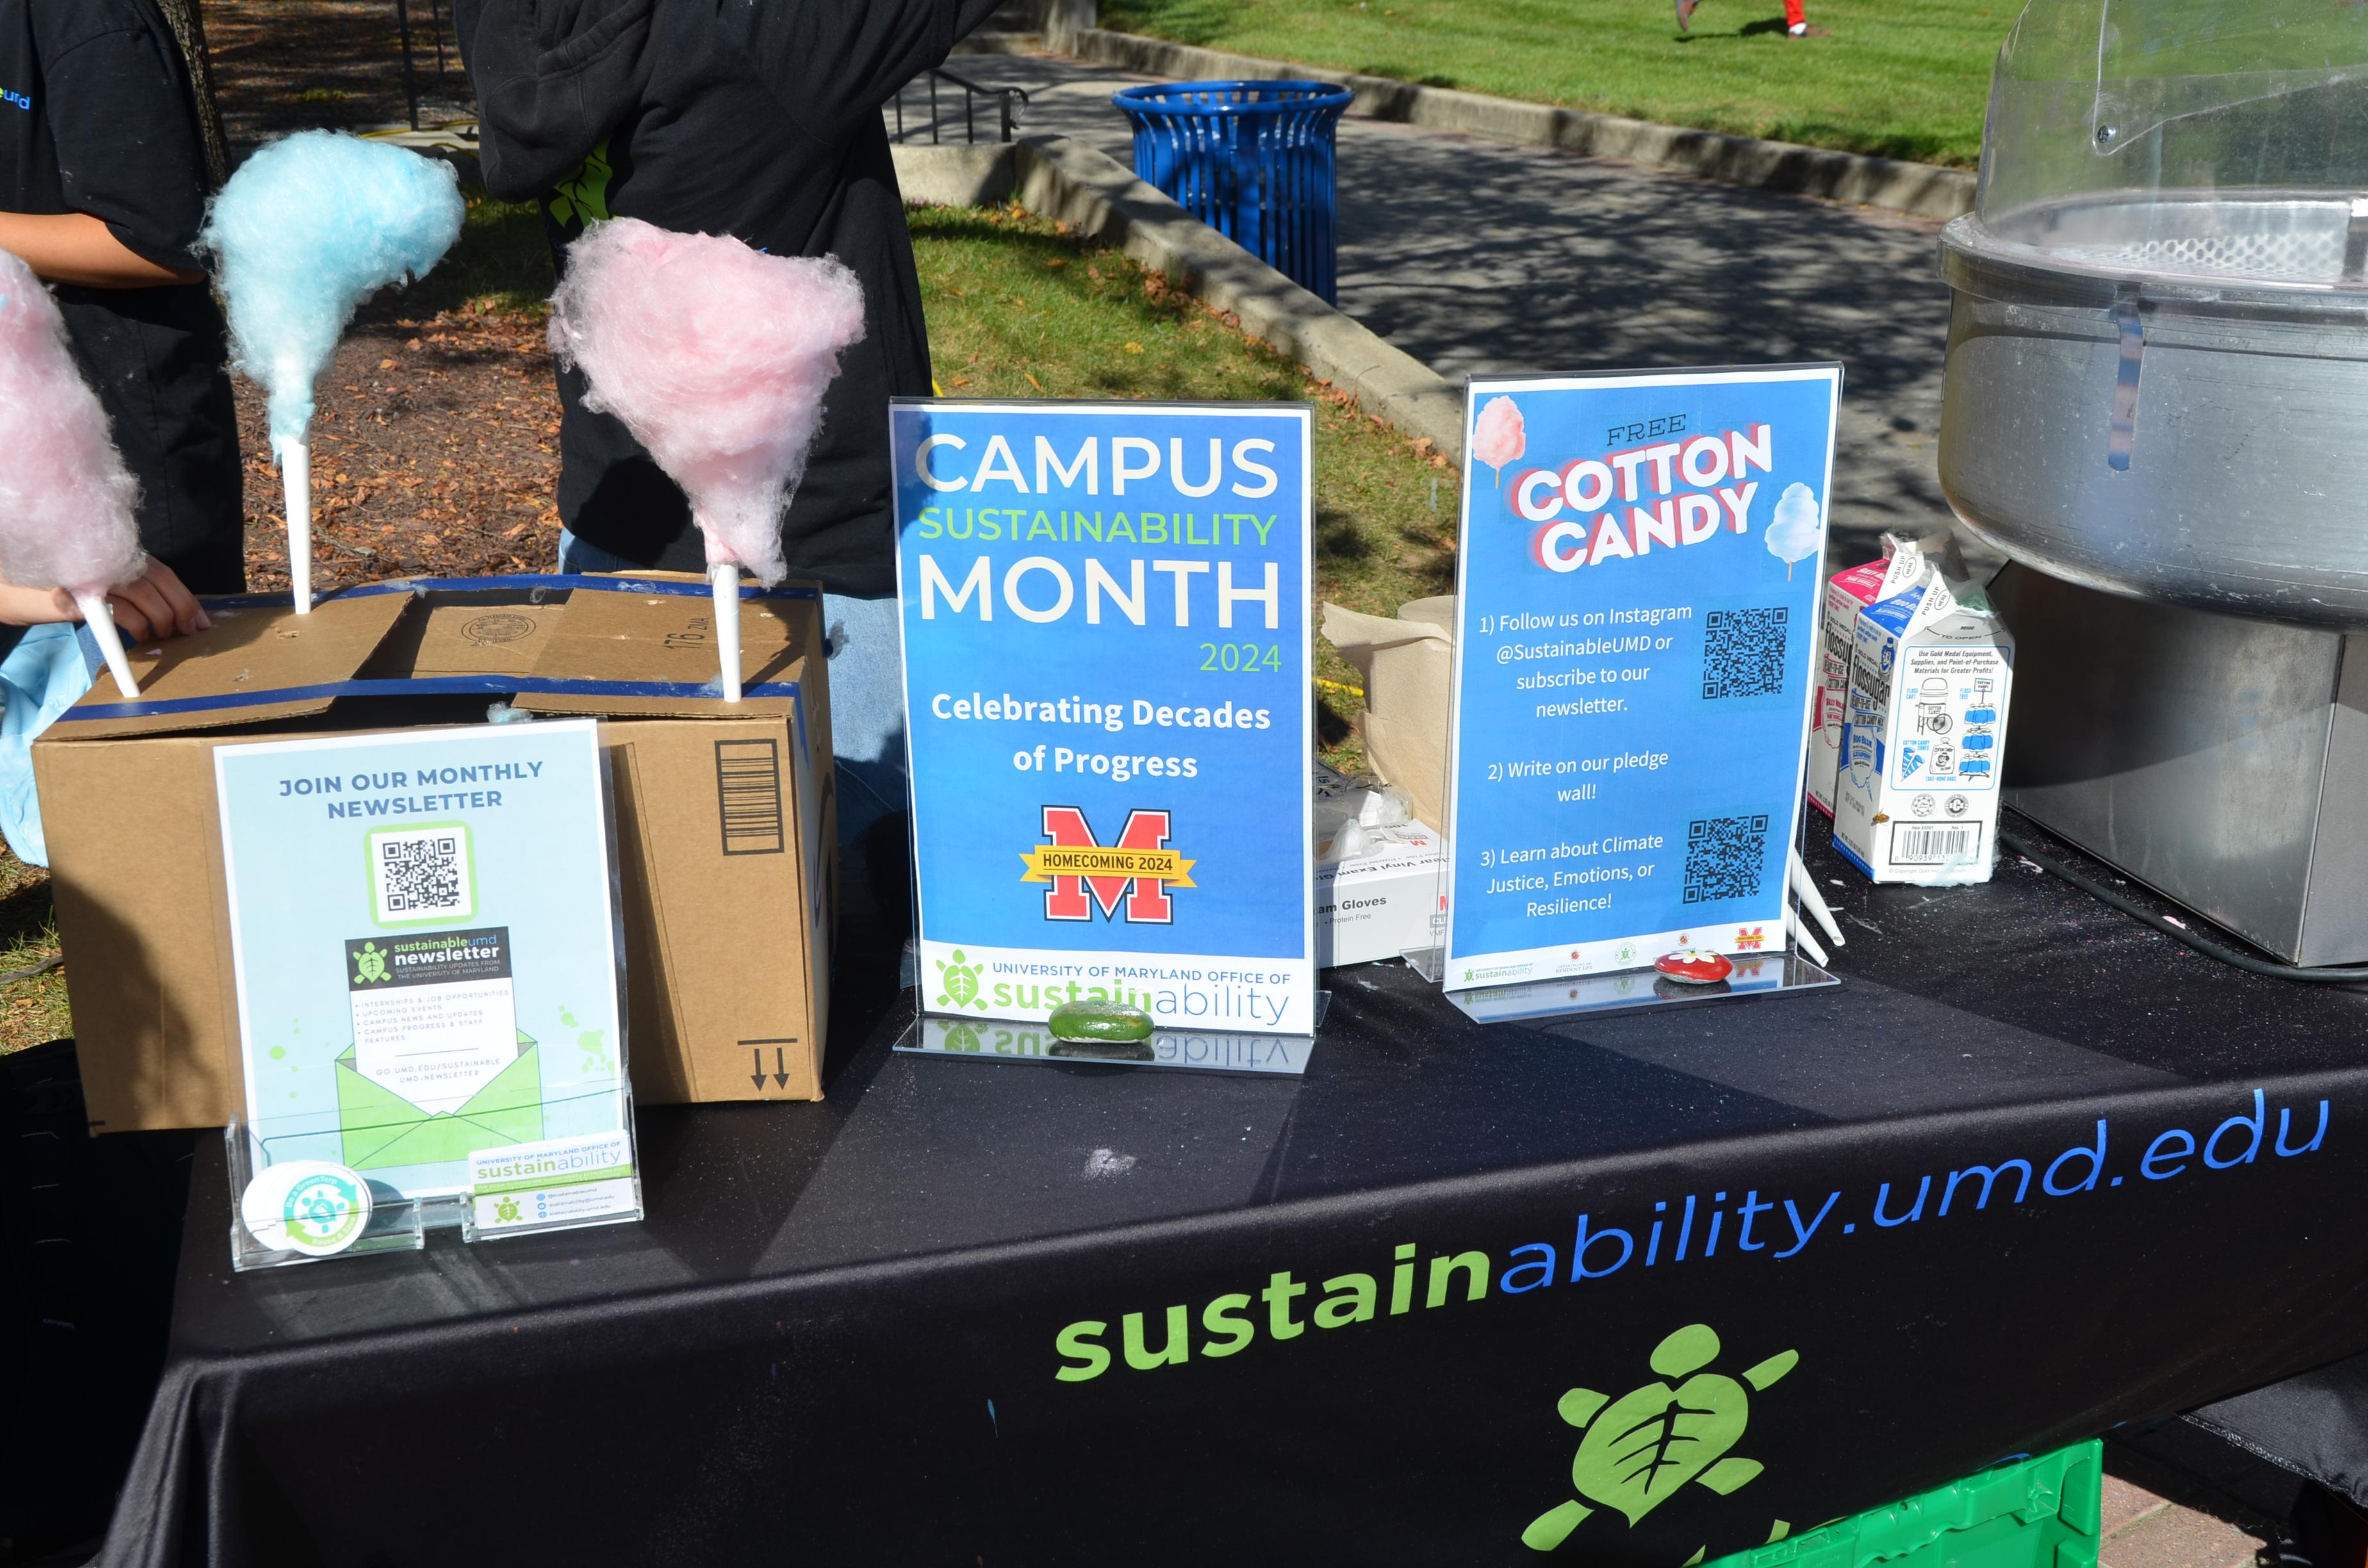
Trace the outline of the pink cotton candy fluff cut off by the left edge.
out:
[[[0,576],[104,595],[147,571],[140,483],[33,268],[0,251]]]

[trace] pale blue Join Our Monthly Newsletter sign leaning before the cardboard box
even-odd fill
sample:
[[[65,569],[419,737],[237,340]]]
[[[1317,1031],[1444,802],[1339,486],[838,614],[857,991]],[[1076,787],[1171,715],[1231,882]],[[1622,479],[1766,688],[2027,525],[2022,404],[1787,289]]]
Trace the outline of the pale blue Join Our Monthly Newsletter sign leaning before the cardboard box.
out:
[[[599,725],[220,746],[213,772],[256,1163],[410,1199],[538,1177],[495,1229],[637,1210]]]

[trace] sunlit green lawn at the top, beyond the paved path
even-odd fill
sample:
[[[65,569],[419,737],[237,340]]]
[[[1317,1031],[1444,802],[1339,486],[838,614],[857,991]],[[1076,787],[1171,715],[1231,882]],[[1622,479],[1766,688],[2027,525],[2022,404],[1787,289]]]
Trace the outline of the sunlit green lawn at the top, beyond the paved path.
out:
[[[1973,166],[2015,0],[1103,0],[1101,26],[1669,126]]]

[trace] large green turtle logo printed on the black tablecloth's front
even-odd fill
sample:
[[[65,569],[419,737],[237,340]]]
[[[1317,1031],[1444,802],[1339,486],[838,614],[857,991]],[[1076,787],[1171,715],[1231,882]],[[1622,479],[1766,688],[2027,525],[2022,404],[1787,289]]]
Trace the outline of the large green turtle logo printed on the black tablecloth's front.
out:
[[[1726,1497],[1759,1476],[1757,1459],[1733,1459],[1726,1450],[1743,1438],[1752,1393],[1793,1371],[1800,1352],[1778,1350],[1745,1369],[1740,1381],[1703,1371],[1717,1357],[1719,1336],[1710,1324],[1688,1324],[1653,1345],[1650,1357],[1662,1379],[1686,1379],[1677,1388],[1646,1383],[1617,1400],[1594,1388],[1565,1393],[1556,1412],[1587,1433],[1570,1461],[1570,1485],[1587,1502],[1546,1509],[1520,1532],[1520,1542],[1553,1551],[1596,1509],[1627,1514],[1634,1528],[1688,1480]]]

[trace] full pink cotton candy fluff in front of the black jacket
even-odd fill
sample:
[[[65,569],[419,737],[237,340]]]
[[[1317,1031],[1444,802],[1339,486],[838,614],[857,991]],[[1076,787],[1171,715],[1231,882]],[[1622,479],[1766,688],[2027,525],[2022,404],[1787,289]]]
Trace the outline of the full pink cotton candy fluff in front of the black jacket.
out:
[[[691,497],[710,566],[789,576],[781,509],[822,429],[864,294],[836,258],[765,256],[725,234],[616,218],[568,246],[552,351]]]

